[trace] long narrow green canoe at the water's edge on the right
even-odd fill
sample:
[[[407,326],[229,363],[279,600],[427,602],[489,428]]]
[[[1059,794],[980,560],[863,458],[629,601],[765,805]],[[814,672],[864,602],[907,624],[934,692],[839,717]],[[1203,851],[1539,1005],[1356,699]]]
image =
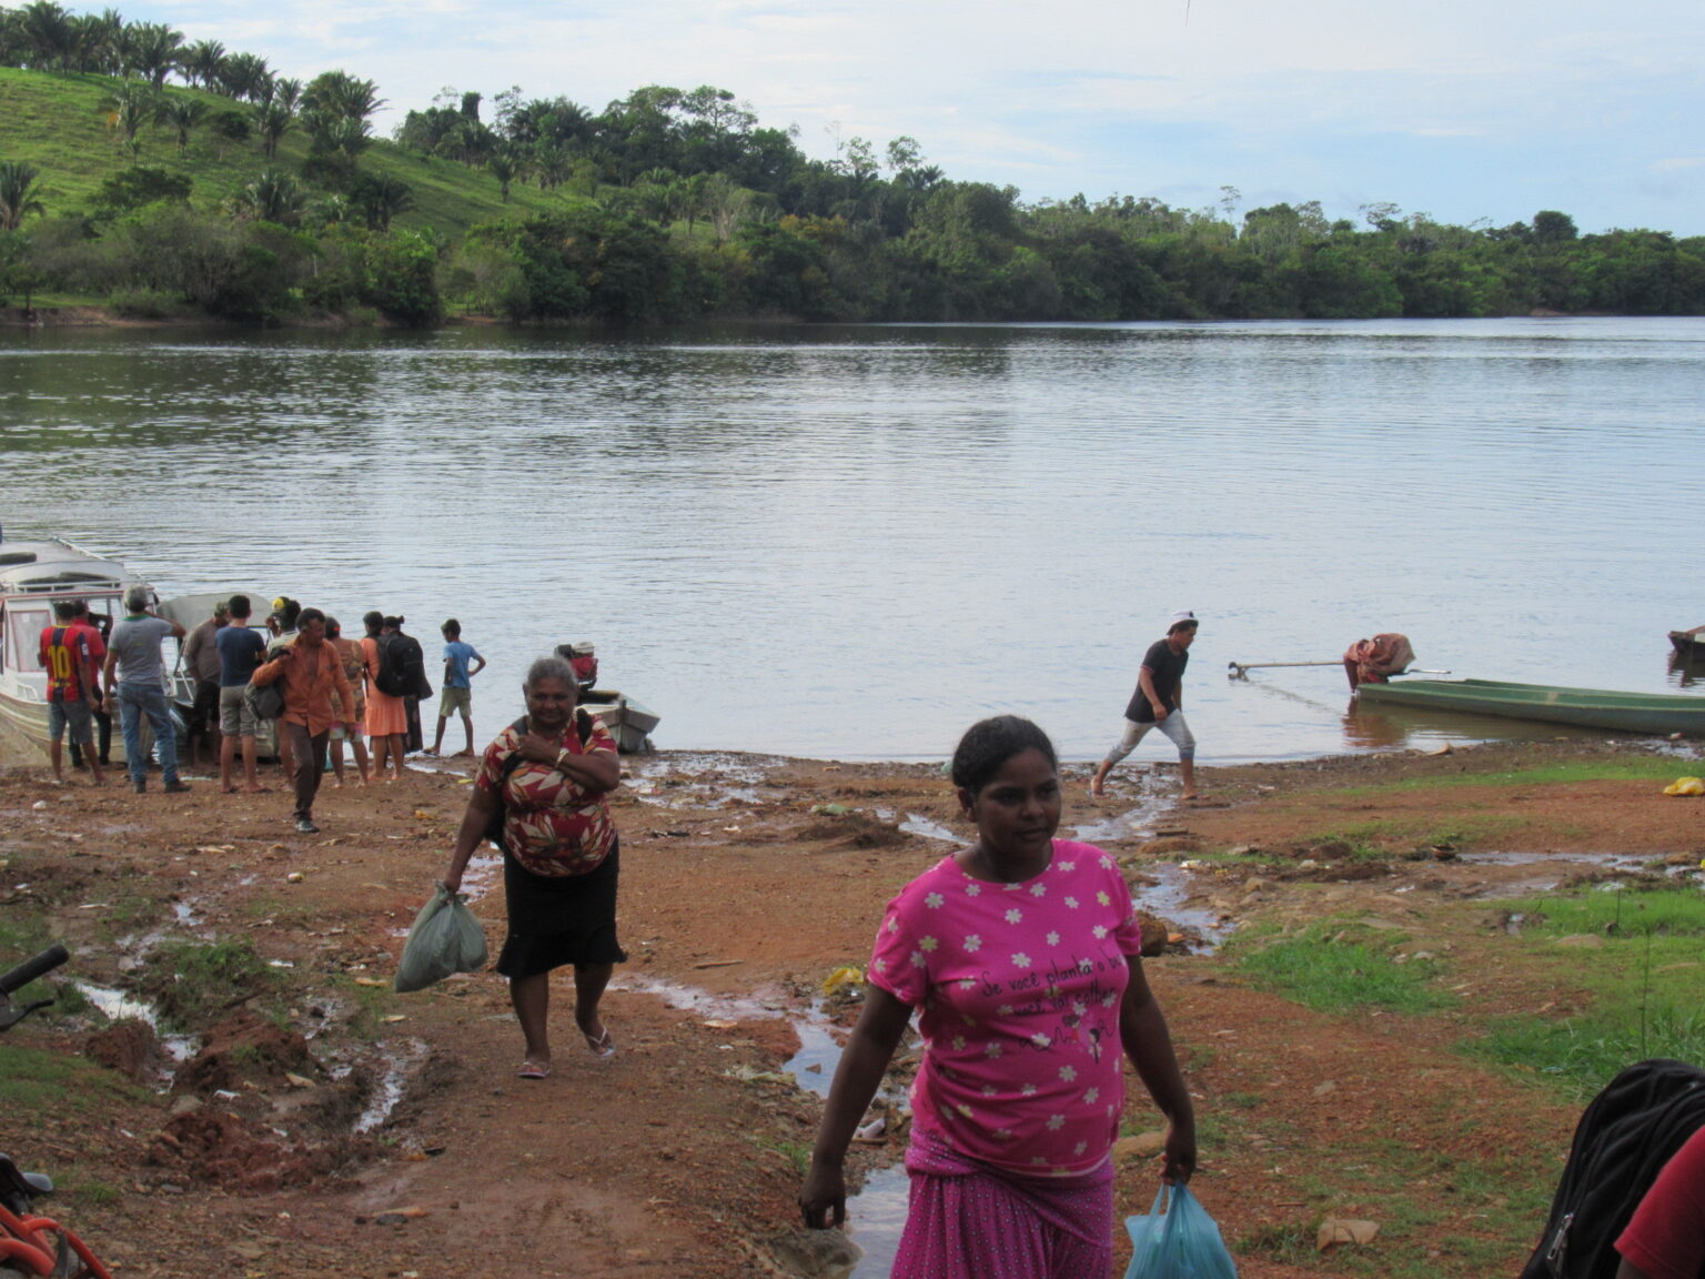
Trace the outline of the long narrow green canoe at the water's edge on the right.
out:
[[[1500,715],[1616,733],[1705,735],[1705,697],[1678,692],[1558,689],[1552,684],[1504,684],[1495,679],[1405,679],[1362,684],[1355,696],[1371,706]]]

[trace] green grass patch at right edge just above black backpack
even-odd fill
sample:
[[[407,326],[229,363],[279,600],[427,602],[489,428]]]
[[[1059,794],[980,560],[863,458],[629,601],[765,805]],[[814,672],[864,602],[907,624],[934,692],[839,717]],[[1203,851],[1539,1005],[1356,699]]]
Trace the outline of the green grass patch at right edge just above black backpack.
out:
[[[1524,916],[1511,945],[1558,986],[1584,989],[1572,1016],[1487,1025],[1468,1050],[1587,1097],[1645,1057],[1705,1061],[1705,894],[1693,887],[1586,888],[1509,902]],[[1563,938],[1603,945],[1562,946]]]

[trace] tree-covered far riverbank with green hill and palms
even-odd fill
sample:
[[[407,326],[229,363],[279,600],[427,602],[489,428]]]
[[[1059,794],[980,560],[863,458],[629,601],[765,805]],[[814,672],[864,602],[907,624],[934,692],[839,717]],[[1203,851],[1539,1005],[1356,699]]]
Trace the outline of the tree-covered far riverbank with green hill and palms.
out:
[[[431,324],[1453,317],[1705,312],[1705,237],[1456,227],[1369,205],[1026,203],[909,136],[806,157],[709,85],[445,92],[375,136],[379,85],[55,0],[0,9],[0,302]]]

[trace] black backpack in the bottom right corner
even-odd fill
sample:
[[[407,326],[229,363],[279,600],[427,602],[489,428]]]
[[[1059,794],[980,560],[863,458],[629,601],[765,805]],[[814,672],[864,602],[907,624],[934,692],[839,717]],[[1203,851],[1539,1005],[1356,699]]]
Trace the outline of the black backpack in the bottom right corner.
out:
[[[1705,1127],[1705,1069],[1642,1061],[1592,1098],[1521,1279],[1615,1279],[1616,1238],[1688,1137]]]

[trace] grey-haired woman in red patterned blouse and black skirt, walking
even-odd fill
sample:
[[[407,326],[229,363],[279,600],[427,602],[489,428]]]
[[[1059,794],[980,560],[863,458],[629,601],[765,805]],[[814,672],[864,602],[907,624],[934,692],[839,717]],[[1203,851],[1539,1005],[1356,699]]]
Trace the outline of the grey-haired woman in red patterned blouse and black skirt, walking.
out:
[[[551,1074],[551,970],[575,965],[575,1025],[593,1057],[616,1054],[598,1013],[616,964],[627,960],[616,940],[616,883],[621,853],[604,796],[622,781],[616,740],[576,711],[575,672],[542,657],[522,686],[527,718],[486,747],[474,793],[450,851],[443,887],[462,888],[462,871],[501,817],[503,899],[510,931],[498,972],[510,979],[510,1003],[527,1050],[517,1076]]]

